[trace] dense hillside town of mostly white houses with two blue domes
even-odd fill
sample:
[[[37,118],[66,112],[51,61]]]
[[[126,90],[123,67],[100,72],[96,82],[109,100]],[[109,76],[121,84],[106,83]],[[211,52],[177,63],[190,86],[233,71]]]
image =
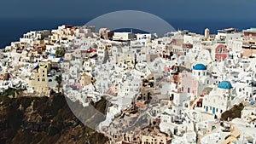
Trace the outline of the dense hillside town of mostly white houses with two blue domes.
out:
[[[255,143],[255,56],[255,28],[157,37],[59,26],[2,49],[0,90],[49,95],[61,84],[84,107],[107,95],[97,129],[113,143]],[[241,103],[241,118],[220,122]]]

